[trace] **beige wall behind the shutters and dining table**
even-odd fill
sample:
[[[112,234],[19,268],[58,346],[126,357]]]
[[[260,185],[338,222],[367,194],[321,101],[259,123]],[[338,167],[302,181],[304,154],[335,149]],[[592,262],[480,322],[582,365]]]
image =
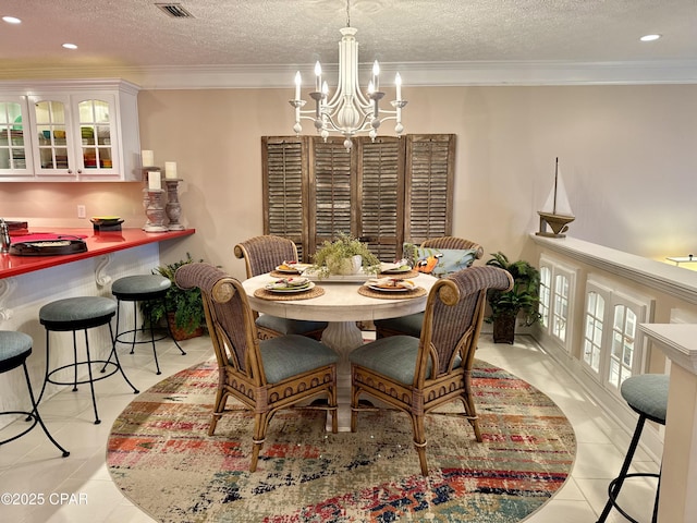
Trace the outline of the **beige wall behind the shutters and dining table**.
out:
[[[178,162],[182,221],[198,231],[166,247],[166,260],[189,251],[244,276],[232,247],[262,232],[260,136],[291,134],[291,95],[290,88],[140,92],[142,148],[152,149],[158,165]],[[453,232],[482,243],[485,259],[499,250],[524,253],[555,157],[577,216],[571,235],[656,259],[697,244],[697,86],[405,88],[404,96],[407,133],[457,135]],[[140,190],[0,184],[0,216],[88,226],[75,218],[84,204],[88,216],[119,214],[140,227]]]

